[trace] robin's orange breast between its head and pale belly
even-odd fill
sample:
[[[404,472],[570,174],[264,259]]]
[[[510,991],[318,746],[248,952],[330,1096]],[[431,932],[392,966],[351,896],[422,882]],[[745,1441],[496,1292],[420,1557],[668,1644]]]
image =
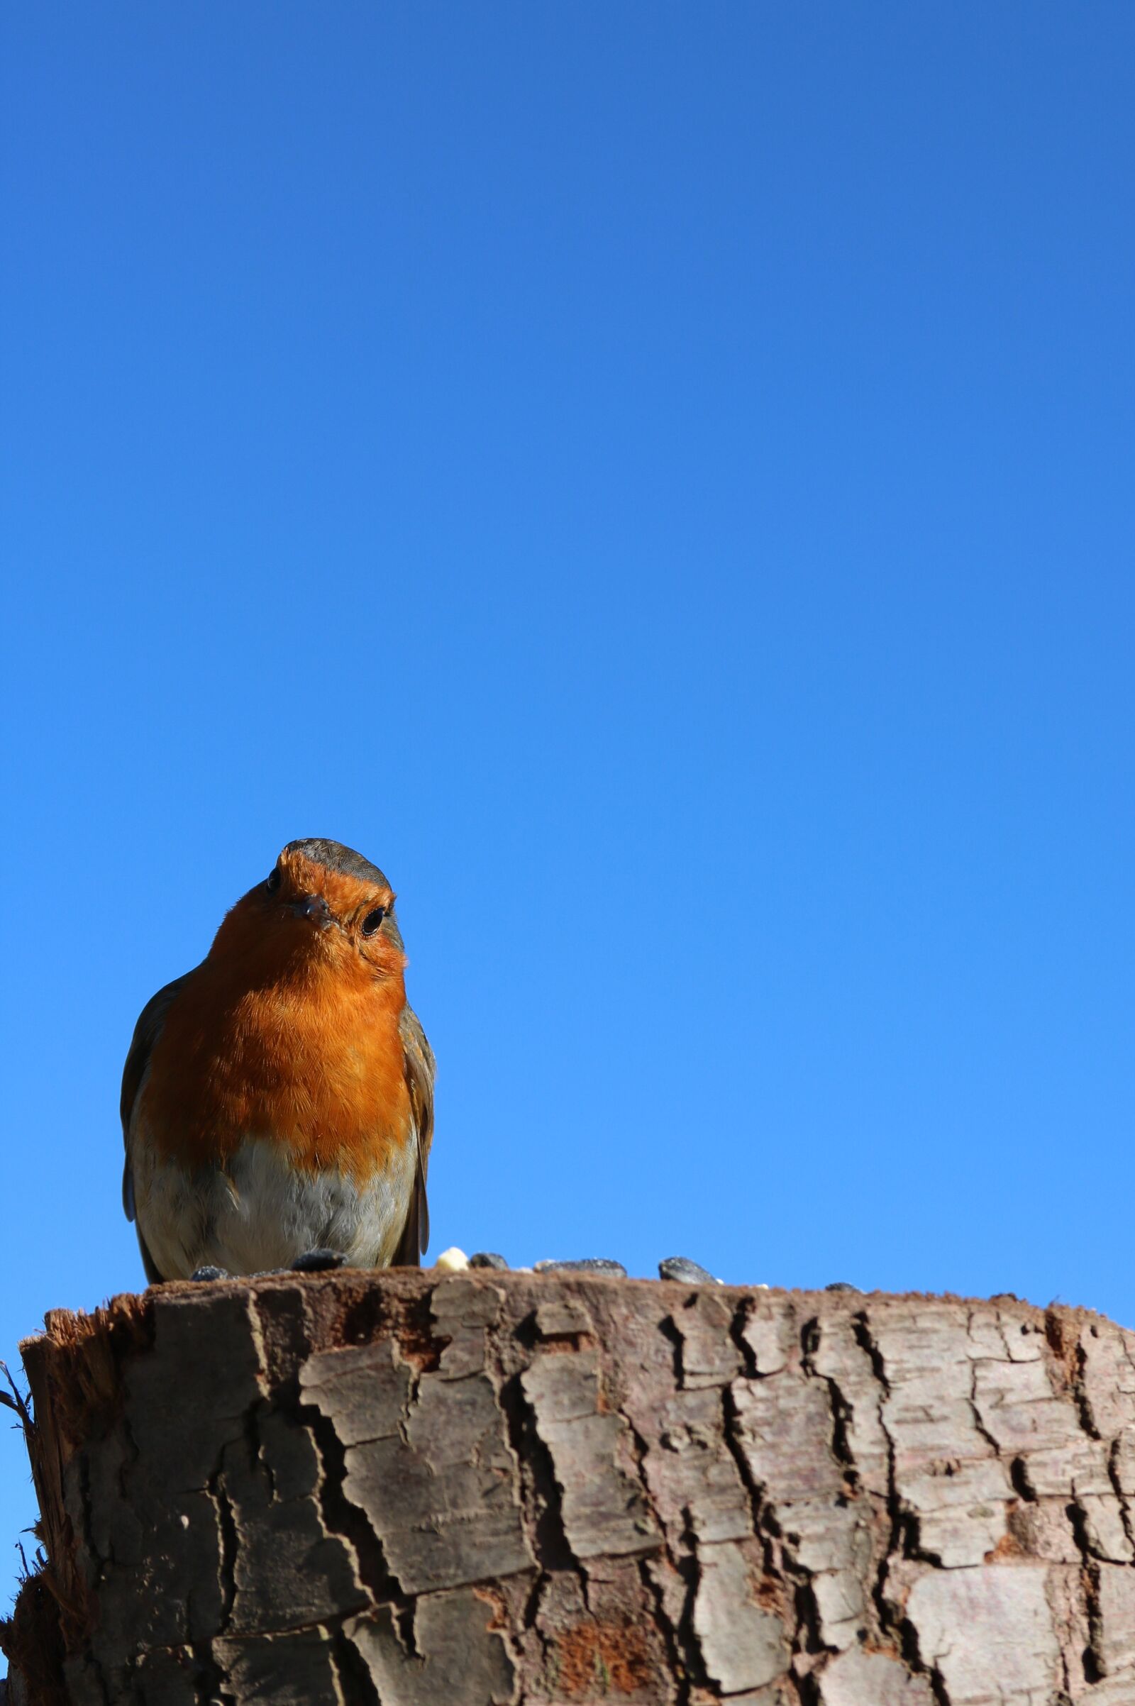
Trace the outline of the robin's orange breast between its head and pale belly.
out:
[[[137,1121],[188,1167],[271,1138],[306,1172],[357,1182],[411,1133],[401,976],[319,959],[278,969],[207,959],[154,1046]]]

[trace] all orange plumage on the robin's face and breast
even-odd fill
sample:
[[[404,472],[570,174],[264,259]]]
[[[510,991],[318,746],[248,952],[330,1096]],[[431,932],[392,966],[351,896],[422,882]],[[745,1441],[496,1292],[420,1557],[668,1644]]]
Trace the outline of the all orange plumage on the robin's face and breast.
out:
[[[261,889],[237,901],[178,993],[138,1119],[155,1150],[186,1167],[224,1165],[261,1136],[302,1172],[338,1167],[360,1184],[411,1134],[406,957],[386,933],[360,952],[343,930],[297,920],[288,899],[321,892],[348,918],[393,896],[299,855],[282,870],[275,904]]]

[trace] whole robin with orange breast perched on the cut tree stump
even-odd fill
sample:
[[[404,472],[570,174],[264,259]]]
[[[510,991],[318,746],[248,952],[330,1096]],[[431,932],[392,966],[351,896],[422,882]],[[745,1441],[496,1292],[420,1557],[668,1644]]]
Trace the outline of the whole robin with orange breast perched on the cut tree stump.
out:
[[[201,964],[142,1010],[123,1071],[123,1208],[150,1281],[418,1266],[434,1053],[389,882],[288,841]]]

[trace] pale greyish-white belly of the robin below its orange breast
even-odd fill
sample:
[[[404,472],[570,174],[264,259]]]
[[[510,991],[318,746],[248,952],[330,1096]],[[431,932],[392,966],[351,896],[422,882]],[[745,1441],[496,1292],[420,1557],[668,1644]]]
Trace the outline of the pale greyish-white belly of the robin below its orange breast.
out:
[[[382,1268],[406,1221],[415,1145],[391,1145],[358,1184],[338,1169],[299,1172],[273,1138],[246,1138],[224,1170],[188,1169],[138,1143],[133,1179],[142,1237],[169,1280],[208,1264],[265,1273],[314,1249],[338,1250],[352,1268]]]

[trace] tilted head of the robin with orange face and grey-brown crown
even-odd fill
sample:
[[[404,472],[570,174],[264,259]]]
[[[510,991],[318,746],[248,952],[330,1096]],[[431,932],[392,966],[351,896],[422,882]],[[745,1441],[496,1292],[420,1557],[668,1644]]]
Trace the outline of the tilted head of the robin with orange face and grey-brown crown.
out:
[[[210,957],[239,955],[275,976],[285,966],[401,979],[394,891],[340,841],[288,841],[271,872],[225,916]]]

